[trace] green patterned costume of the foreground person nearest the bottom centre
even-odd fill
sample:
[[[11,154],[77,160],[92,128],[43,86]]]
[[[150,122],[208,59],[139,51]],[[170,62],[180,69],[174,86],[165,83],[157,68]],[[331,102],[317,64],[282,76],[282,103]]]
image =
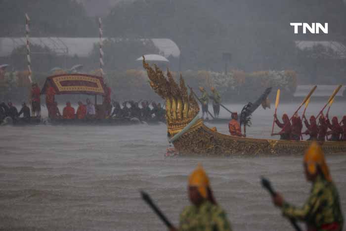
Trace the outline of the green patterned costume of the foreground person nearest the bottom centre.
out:
[[[208,200],[187,206],[180,214],[179,231],[231,231],[226,213]]]

